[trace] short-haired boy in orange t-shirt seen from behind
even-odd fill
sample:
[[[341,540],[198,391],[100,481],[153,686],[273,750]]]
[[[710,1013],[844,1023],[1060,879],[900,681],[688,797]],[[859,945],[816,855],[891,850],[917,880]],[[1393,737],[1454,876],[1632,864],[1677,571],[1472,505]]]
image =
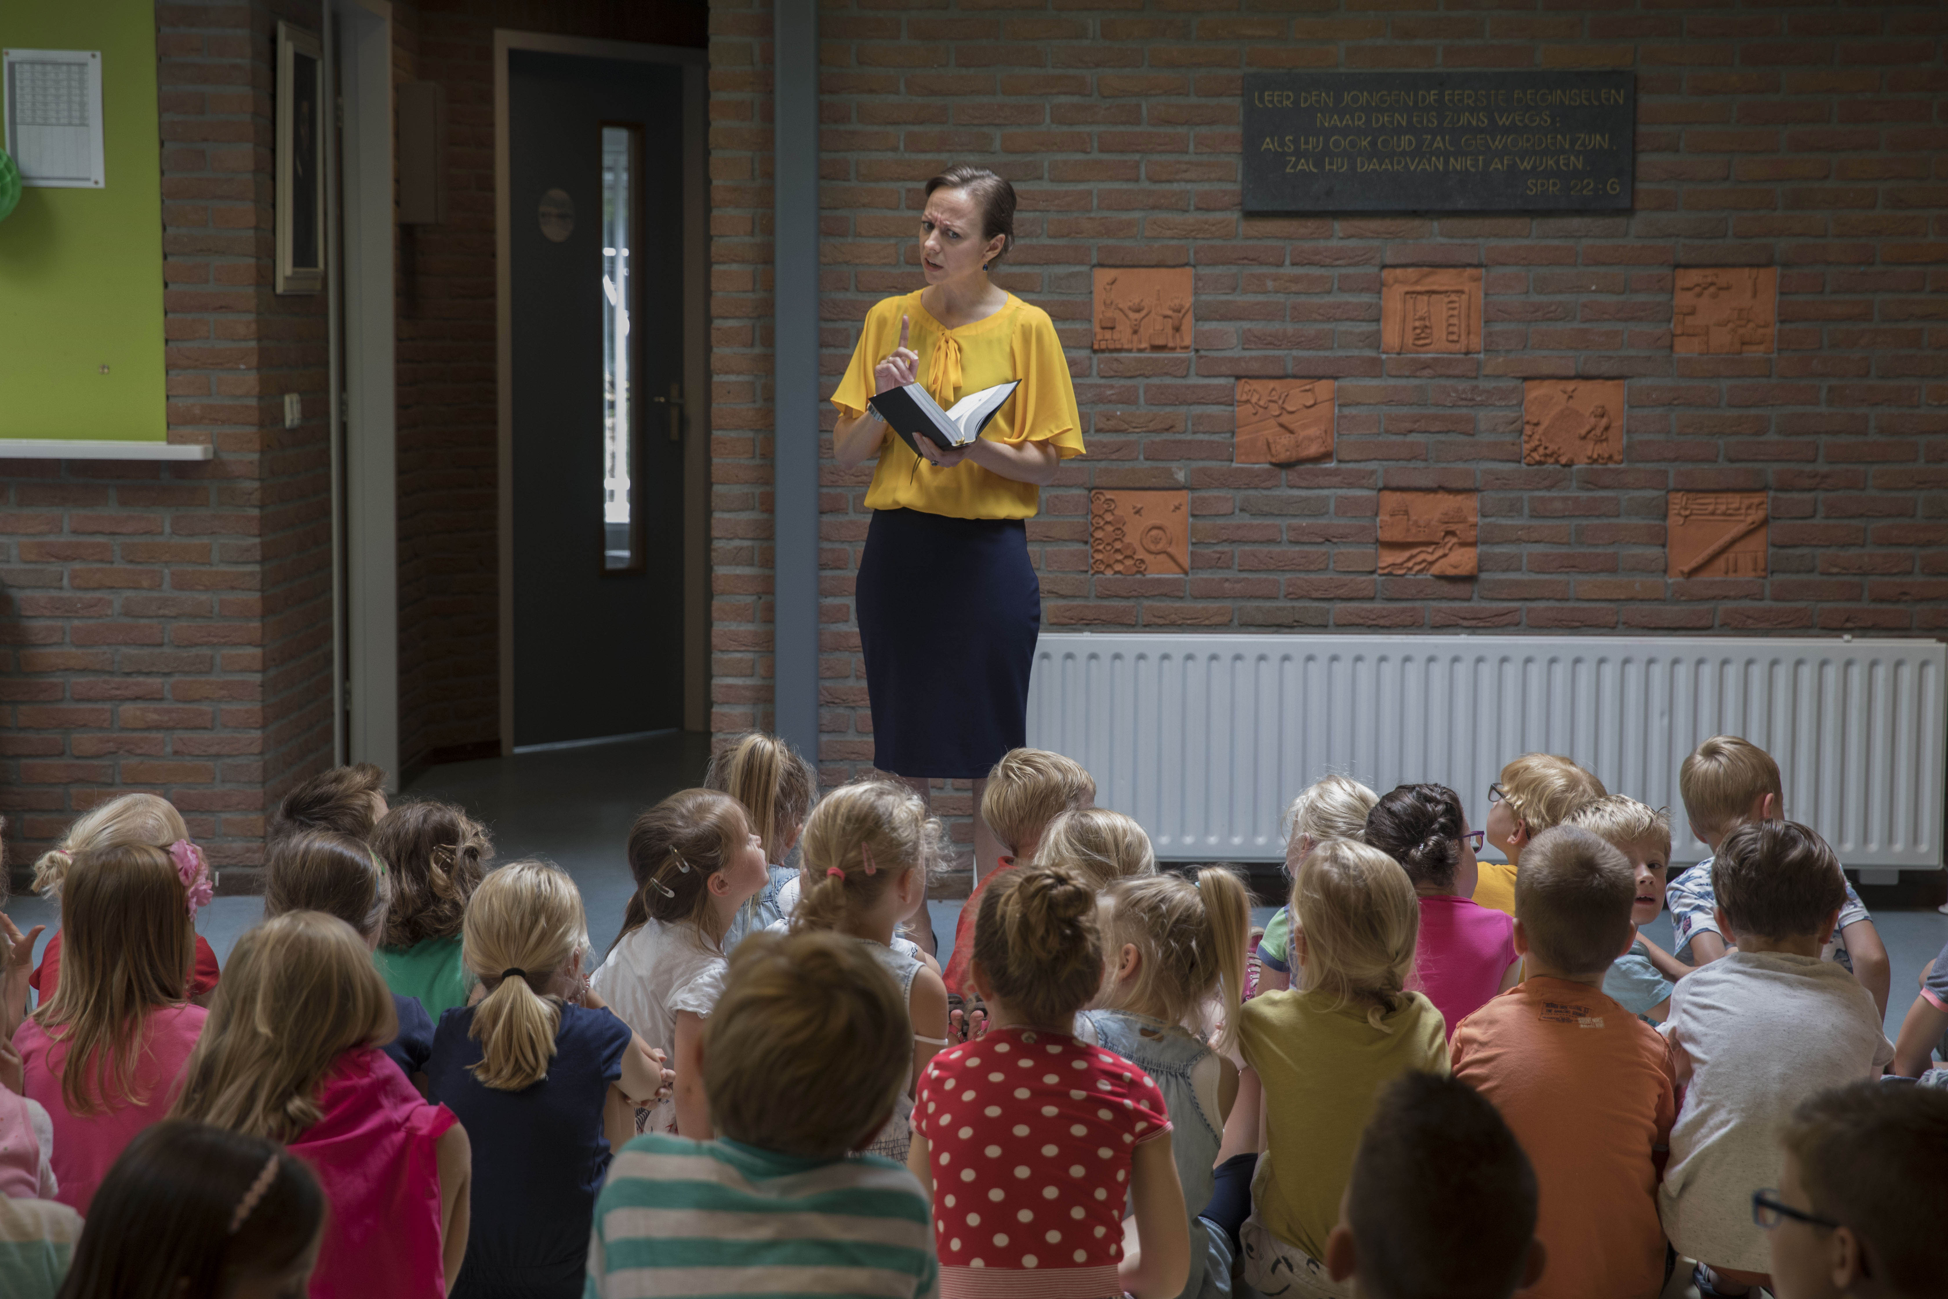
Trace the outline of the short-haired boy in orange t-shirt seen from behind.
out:
[[[1453,1075],[1502,1112],[1535,1165],[1549,1268],[1533,1299],[1654,1299],[1664,1287],[1658,1178],[1677,1061],[1603,995],[1634,937],[1634,900],[1630,863],[1597,835],[1535,835],[1516,878],[1527,980],[1461,1021],[1449,1046]]]

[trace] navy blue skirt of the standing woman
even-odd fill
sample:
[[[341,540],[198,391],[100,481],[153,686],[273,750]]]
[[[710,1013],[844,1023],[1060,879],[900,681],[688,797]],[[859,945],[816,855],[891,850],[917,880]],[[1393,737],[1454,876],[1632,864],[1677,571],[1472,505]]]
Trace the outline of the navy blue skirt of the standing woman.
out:
[[[1042,584],[1023,520],[875,510],[853,590],[875,767],[984,777],[1027,744]]]

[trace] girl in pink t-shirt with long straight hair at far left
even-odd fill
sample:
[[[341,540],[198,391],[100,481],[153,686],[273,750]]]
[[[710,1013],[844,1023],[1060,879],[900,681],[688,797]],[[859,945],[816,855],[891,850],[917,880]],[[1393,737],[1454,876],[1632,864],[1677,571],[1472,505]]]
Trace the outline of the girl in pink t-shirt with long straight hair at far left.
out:
[[[27,1096],[55,1122],[56,1200],[84,1217],[123,1147],[169,1112],[203,1032],[189,968],[195,913],[212,892],[187,839],[84,849],[66,871],[66,970],[14,1046]]]

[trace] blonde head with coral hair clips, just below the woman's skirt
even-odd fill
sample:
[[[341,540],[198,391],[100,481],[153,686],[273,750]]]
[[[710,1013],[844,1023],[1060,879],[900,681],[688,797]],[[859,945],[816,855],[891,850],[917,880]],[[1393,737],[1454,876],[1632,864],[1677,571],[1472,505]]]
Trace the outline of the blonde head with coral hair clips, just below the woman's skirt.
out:
[[[884,896],[902,871],[931,874],[945,832],[898,781],[865,777],[820,798],[805,822],[795,929],[840,929]]]

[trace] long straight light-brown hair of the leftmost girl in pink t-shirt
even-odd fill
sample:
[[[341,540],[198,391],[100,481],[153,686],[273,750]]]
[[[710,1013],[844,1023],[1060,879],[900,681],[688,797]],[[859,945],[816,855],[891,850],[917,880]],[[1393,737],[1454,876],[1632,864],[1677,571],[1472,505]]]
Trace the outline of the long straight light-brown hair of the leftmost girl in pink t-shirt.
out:
[[[195,941],[189,890],[166,849],[115,843],[74,855],[60,898],[60,984],[33,1013],[68,1048],[60,1100],[70,1114],[152,1100],[134,1091],[142,1021],[189,995]]]

